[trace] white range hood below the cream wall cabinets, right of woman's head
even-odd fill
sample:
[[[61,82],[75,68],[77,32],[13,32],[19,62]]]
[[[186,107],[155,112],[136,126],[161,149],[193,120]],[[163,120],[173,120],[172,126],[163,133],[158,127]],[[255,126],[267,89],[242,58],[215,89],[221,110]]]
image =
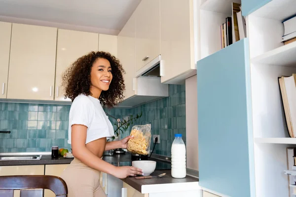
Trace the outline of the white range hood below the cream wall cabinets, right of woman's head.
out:
[[[135,95],[118,103],[119,107],[135,107],[169,96],[169,85],[162,84],[160,55],[136,72],[133,79]]]

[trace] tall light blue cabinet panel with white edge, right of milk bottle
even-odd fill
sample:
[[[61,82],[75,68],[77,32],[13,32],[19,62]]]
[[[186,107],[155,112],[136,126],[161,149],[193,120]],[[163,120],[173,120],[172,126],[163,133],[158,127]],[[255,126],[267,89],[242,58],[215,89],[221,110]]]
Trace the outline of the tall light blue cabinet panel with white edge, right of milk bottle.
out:
[[[200,186],[225,196],[255,196],[248,38],[198,61],[197,106]]]

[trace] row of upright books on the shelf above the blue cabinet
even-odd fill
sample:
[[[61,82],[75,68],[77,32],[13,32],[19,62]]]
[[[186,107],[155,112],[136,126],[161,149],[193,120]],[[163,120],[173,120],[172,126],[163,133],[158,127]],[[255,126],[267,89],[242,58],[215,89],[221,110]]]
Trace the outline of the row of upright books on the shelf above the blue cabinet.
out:
[[[220,26],[221,48],[247,36],[246,19],[242,16],[241,4],[232,2],[232,15]]]

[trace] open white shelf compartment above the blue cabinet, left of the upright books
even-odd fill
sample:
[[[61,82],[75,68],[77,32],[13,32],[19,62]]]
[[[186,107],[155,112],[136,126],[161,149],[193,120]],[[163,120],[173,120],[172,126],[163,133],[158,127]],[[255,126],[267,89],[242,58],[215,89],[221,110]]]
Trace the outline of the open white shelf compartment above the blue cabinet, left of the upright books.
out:
[[[200,59],[221,50],[220,26],[232,16],[232,2],[241,0],[200,0]]]

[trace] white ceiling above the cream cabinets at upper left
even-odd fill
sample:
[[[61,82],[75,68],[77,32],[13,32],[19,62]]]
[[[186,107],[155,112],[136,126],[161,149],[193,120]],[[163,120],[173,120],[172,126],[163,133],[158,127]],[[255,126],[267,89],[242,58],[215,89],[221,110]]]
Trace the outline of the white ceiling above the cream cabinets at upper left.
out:
[[[0,0],[0,21],[118,34],[141,0]]]

